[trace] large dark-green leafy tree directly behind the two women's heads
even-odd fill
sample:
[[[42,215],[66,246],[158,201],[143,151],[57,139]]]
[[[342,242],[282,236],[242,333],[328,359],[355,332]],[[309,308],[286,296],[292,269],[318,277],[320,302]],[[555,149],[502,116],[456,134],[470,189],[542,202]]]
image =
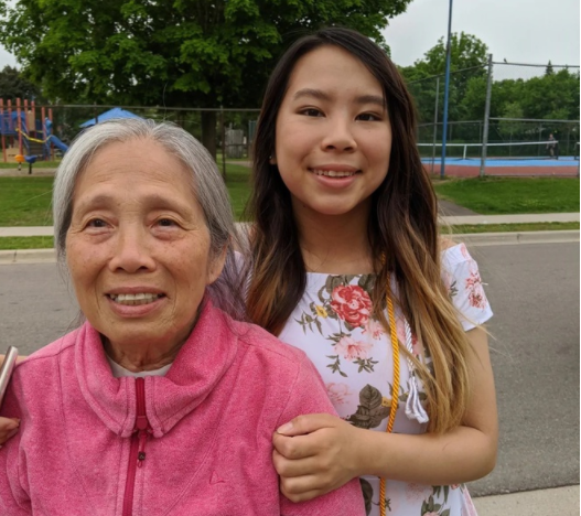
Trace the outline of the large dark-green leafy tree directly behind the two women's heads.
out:
[[[257,107],[292,41],[324,25],[380,30],[411,0],[0,0],[0,43],[49,98]],[[215,153],[215,112],[203,112]]]

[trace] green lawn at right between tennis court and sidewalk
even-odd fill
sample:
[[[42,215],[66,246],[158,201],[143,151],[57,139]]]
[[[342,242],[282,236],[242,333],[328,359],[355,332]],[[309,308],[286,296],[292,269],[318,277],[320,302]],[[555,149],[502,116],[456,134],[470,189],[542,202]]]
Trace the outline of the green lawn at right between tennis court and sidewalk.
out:
[[[433,182],[440,198],[483,215],[579,212],[575,178],[476,178]]]

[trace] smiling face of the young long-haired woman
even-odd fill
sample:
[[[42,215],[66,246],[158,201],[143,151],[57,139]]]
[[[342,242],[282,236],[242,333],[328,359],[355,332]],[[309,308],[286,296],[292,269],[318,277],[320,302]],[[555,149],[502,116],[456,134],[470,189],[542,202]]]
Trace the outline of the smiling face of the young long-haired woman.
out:
[[[276,152],[298,217],[357,215],[384,181],[391,127],[379,82],[332,45],[301,57],[277,117]]]

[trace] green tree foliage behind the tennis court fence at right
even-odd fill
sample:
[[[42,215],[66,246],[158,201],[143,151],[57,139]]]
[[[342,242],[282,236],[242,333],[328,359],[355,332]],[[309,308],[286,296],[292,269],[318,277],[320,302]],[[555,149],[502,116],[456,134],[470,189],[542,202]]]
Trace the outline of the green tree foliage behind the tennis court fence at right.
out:
[[[451,37],[451,75],[449,118],[451,121],[478,121],[484,119],[487,82],[486,44],[477,37],[460,33]],[[495,71],[502,65],[495,66]],[[400,68],[418,105],[420,122],[432,122],[437,104],[437,76],[440,77],[438,95],[438,120],[442,120],[443,109],[443,74],[445,69],[445,44],[440,39],[423,58],[416,61],[413,66]],[[556,133],[562,146],[569,136],[579,131],[579,72],[567,68],[556,68],[549,62],[545,74],[529,79],[494,80],[492,86],[491,117],[525,118],[544,120],[572,120],[571,125],[560,126],[546,123],[544,126],[503,120],[491,129],[489,138],[501,141],[539,141]],[[420,128],[421,129],[421,128]],[[429,129],[431,140],[432,128]],[[453,129],[453,137],[451,136]],[[480,128],[482,129],[482,128]],[[449,127],[449,140],[482,141],[477,125]],[[561,137],[557,135],[558,130]],[[539,135],[540,131],[540,135]],[[566,137],[567,133],[567,137]],[[423,136],[428,138],[428,133]],[[420,132],[420,140],[422,136]],[[571,146],[570,146],[571,147]],[[567,149],[571,152],[571,149]]]

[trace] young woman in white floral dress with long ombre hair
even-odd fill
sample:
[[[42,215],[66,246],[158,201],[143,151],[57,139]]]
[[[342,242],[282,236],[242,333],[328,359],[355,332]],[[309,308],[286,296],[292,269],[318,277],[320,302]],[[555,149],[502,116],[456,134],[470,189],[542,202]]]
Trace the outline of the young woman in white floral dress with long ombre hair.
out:
[[[477,266],[438,235],[413,103],[349,30],[293,44],[255,143],[250,319],[303,350],[340,418],[273,437],[282,492],[361,476],[367,514],[474,514],[463,483],[495,464],[497,417]]]

